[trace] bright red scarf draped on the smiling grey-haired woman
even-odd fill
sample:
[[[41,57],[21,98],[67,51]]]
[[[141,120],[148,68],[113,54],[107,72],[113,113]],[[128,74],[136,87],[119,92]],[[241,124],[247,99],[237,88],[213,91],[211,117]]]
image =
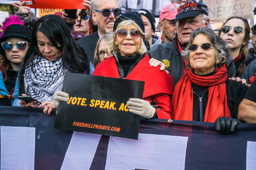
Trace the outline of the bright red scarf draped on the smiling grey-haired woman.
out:
[[[173,119],[193,120],[193,89],[191,82],[209,87],[209,97],[205,109],[204,122],[214,122],[220,116],[230,117],[225,81],[227,69],[223,65],[214,75],[199,76],[191,69],[176,84],[172,96]]]

